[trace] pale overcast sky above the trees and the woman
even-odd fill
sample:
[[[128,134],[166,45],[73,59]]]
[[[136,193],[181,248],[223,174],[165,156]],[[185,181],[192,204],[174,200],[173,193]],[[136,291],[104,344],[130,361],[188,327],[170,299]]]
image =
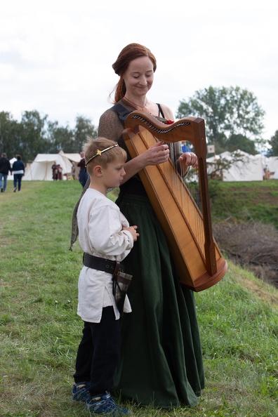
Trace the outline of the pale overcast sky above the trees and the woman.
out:
[[[157,58],[150,100],[169,105],[195,91],[239,86],[265,110],[264,138],[278,130],[278,6],[265,0],[0,0],[0,111],[25,110],[73,127],[98,126],[117,84],[124,46]]]

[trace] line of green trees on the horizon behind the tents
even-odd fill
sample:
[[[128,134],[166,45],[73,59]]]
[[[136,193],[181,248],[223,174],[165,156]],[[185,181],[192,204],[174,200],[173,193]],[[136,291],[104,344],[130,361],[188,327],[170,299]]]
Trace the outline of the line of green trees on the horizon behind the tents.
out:
[[[263,138],[265,111],[251,91],[236,87],[209,86],[181,100],[176,117],[201,117],[206,123],[206,140],[216,147],[216,154],[242,150],[267,156],[278,155],[278,130],[272,138]],[[60,126],[37,110],[22,113],[21,121],[10,112],[0,112],[0,152],[9,159],[21,154],[32,161],[38,153],[80,152],[86,135],[97,135],[90,119],[78,116],[74,128]]]

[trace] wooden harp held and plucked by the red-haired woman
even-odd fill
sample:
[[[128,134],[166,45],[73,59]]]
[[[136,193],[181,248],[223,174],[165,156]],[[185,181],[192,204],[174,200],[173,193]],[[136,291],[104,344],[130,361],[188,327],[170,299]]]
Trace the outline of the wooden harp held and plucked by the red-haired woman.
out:
[[[188,140],[194,145],[201,209],[170,159],[158,166],[147,166],[139,175],[166,235],[180,284],[193,291],[208,289],[224,277],[227,262],[213,239],[211,227],[204,119],[185,117],[167,125],[147,112],[136,110],[126,117],[122,136],[132,158],[157,140],[166,143]]]

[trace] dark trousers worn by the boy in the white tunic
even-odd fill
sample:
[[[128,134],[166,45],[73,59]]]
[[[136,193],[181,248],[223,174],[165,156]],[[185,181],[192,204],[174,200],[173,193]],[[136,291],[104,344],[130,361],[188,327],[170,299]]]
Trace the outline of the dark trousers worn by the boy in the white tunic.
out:
[[[102,310],[100,323],[84,322],[77,351],[75,383],[90,381],[91,395],[110,391],[119,361],[121,336],[113,307]]]

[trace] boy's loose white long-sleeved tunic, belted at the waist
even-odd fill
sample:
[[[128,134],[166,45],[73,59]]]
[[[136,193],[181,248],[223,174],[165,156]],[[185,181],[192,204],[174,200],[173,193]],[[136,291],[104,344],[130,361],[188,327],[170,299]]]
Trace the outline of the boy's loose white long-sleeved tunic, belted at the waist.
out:
[[[77,211],[77,223],[81,249],[90,255],[121,262],[133,248],[132,234],[121,230],[122,226],[129,227],[128,221],[117,204],[97,190],[86,190]],[[79,275],[77,314],[84,322],[99,323],[102,307],[108,305],[114,307],[119,319],[112,274],[84,266]],[[124,312],[131,312],[127,296]]]

